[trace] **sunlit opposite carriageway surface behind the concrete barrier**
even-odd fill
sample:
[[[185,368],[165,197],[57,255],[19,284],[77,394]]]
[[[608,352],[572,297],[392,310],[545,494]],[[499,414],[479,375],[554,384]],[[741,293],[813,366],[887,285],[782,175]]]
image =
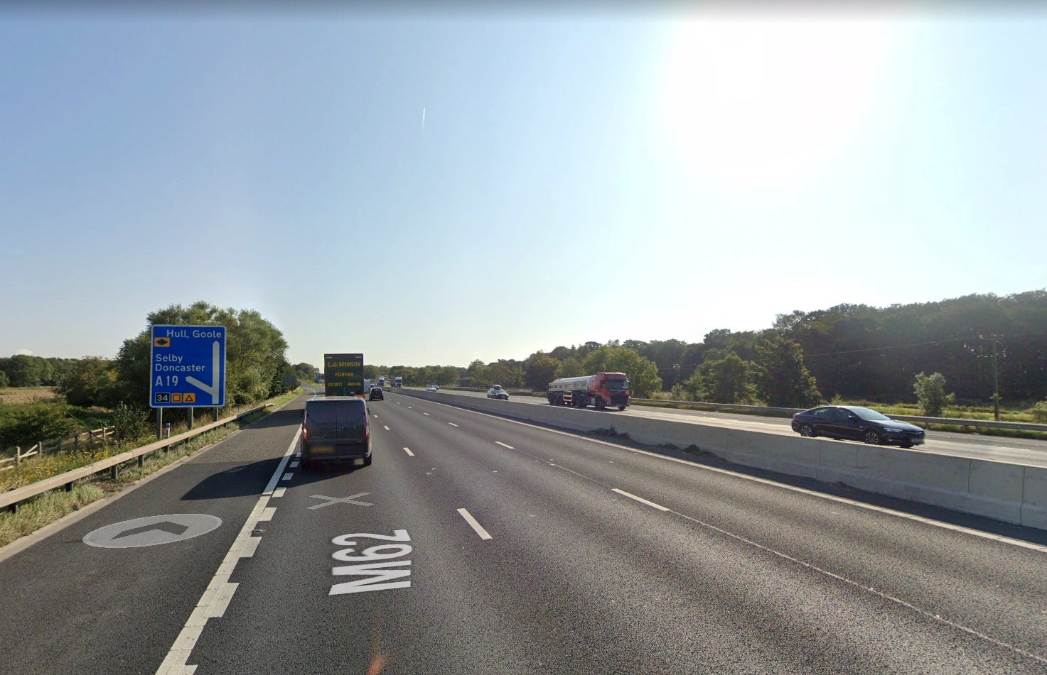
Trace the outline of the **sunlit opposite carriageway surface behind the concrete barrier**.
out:
[[[440,392],[447,396],[486,396],[484,392],[468,392],[459,390],[440,390]],[[533,403],[535,405],[549,405],[545,398],[539,396],[513,396],[511,400],[522,403]],[[596,409],[589,408],[586,410],[593,412],[594,415],[623,414],[617,409],[596,411]],[[761,434],[797,436],[797,433],[789,426],[789,419],[783,417],[758,417],[755,415],[743,415],[738,413],[715,413],[636,404],[626,409],[625,414],[676,422],[692,422],[694,424],[727,426],[730,428],[749,432],[759,432]],[[830,439],[825,440],[830,443],[855,442],[832,441]],[[931,430],[927,433],[927,443],[923,445],[917,445],[913,448],[913,451],[949,455],[952,457],[966,457],[976,460],[989,460],[993,462],[1007,462],[1010,464],[1022,464],[1024,466],[1047,467],[1047,441],[1031,439]]]

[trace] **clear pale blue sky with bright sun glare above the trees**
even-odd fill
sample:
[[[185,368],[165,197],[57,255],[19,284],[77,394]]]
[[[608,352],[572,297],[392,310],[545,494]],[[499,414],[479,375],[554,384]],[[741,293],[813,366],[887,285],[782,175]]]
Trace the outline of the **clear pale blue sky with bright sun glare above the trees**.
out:
[[[3,356],[197,300],[465,366],[1047,286],[1037,3],[74,6],[0,9]]]

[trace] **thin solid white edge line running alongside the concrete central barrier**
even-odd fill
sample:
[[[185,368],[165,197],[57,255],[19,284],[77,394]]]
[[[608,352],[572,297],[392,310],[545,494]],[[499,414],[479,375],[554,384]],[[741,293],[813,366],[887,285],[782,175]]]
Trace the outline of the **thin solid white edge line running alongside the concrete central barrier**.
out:
[[[728,469],[721,469],[715,466],[706,466],[705,464],[698,464],[697,462],[691,462],[688,460],[681,460],[674,457],[667,457],[665,455],[659,455],[656,452],[649,452],[647,450],[639,450],[634,447],[628,447],[625,445],[618,445],[617,443],[611,443],[609,441],[603,441],[600,439],[588,438],[586,436],[579,436],[578,434],[571,434],[570,432],[561,432],[555,428],[549,428],[548,426],[540,426],[538,424],[533,424],[531,422],[524,422],[520,420],[514,420],[508,417],[500,417],[498,415],[490,415],[488,413],[481,413],[480,411],[469,410],[468,408],[459,408],[458,405],[451,405],[450,403],[441,403],[440,401],[432,401],[429,399],[424,399],[430,403],[436,403],[437,405],[446,405],[447,408],[453,408],[456,411],[462,411],[465,413],[472,413],[473,415],[480,415],[481,417],[490,417],[492,419],[502,420],[503,422],[509,422],[511,424],[519,424],[520,426],[528,426],[531,428],[541,429],[543,432],[549,432],[550,434],[558,434],[560,436],[566,436],[567,438],[578,439],[579,441],[586,441],[588,443],[598,443],[600,445],[606,445],[607,447],[618,448],[620,450],[628,450],[633,455],[646,455],[659,460],[665,460],[667,462],[675,462],[676,464],[684,464],[687,466],[694,467],[696,469],[701,469],[704,471],[714,471],[716,473],[721,473],[723,475],[732,475],[737,479],[742,479],[743,481],[752,481],[754,483],[762,483],[776,488],[781,488],[784,490],[792,490],[793,492],[800,492],[807,494],[820,499],[827,499],[829,502],[837,502],[840,504],[847,504],[860,509],[866,509],[868,511],[878,511],[887,515],[892,515],[898,518],[905,518],[906,520],[915,520],[916,522],[922,522],[941,530],[951,530],[954,532],[960,532],[975,537],[980,537],[982,539],[992,539],[993,541],[999,541],[1000,543],[1006,543],[1012,546],[1020,546],[1022,549],[1029,549],[1031,551],[1039,551],[1040,553],[1047,553],[1047,546],[1031,543],[1029,541],[1022,541],[1021,539],[1011,539],[1010,537],[993,534],[992,532],[982,532],[981,530],[974,530],[972,528],[965,528],[959,525],[953,525],[951,522],[944,522],[942,520],[934,520],[932,518],[927,518],[925,516],[919,516],[913,513],[906,513],[905,511],[895,511],[893,509],[888,509],[886,507],[876,506],[873,504],[866,504],[865,502],[856,502],[854,499],[849,499],[847,497],[837,496],[836,494],[826,494],[824,492],[817,492],[815,490],[808,490],[806,488],[796,487],[794,485],[787,485],[785,483],[777,483],[768,479],[761,479],[755,475],[749,475],[748,473],[739,473],[737,471],[731,471]],[[536,462],[538,460],[535,460]]]

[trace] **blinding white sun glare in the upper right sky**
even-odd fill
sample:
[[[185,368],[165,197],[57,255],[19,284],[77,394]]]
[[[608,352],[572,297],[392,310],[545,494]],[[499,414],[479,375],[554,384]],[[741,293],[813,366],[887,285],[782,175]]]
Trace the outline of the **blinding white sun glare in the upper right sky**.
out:
[[[669,49],[669,140],[722,188],[810,180],[876,104],[890,37],[879,21],[688,22]]]

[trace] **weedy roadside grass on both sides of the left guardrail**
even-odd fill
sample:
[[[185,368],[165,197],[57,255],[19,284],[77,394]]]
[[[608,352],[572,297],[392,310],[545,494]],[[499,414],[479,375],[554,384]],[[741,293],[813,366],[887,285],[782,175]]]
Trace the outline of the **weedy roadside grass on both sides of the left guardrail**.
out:
[[[300,390],[289,392],[283,396],[270,399],[267,403],[270,403],[272,408],[280,408],[300,393]],[[249,408],[254,408],[254,405],[244,406],[244,410]],[[231,415],[236,414],[236,411],[228,411],[227,413]],[[20,505],[17,513],[10,513],[9,511],[0,512],[0,546],[6,545],[15,539],[35,532],[48,523],[54,522],[108,494],[118,492],[128,485],[155,473],[164,466],[191,457],[267,414],[268,412],[257,413],[252,416],[242,418],[239,423],[226,424],[194,437],[184,443],[179,443],[166,452],[154,452],[144,459],[141,467],[138,467],[134,462],[129,463],[127,466],[131,468],[120,472],[115,481],[111,480],[107,471],[92,479],[85,479],[74,485],[73,489],[69,492],[66,492],[64,489],[58,489],[41,494],[32,501]],[[172,428],[171,434],[174,436],[184,430],[183,425],[181,429]],[[111,443],[103,448],[96,448],[93,452],[75,455],[64,452],[60,456],[44,457],[40,460],[36,458],[26,460],[19,469],[0,473],[0,492],[20,487],[21,485],[29,485],[36,481],[70,471],[80,466],[86,466],[91,462],[119,455],[135,447],[148,445],[155,440],[151,435],[136,442],[124,444]]]

